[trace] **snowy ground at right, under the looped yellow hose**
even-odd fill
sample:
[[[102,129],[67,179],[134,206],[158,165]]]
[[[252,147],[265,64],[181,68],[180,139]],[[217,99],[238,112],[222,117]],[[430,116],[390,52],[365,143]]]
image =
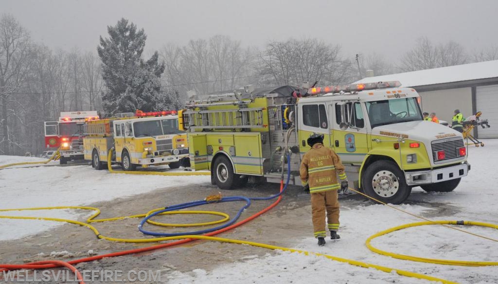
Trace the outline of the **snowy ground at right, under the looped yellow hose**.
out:
[[[498,224],[498,140],[485,140],[485,147],[469,146],[472,169],[459,187],[449,193],[426,193],[413,188],[408,203],[399,208],[429,214],[431,220],[469,220]],[[422,202],[430,202],[431,206]],[[418,203],[420,205],[418,205]],[[357,206],[341,211],[341,240],[328,240],[318,247],[314,238],[303,238],[294,247],[371,264],[427,274],[459,283],[498,283],[497,267],[463,267],[397,260],[371,252],[365,240],[379,231],[422,221],[383,205]],[[311,216],[310,216],[311,222]],[[462,227],[459,227],[462,228]],[[484,227],[462,229],[498,239],[498,231]],[[308,233],[308,234],[307,234]],[[303,237],[309,232],[303,232]],[[372,241],[373,246],[411,256],[462,260],[498,261],[498,243],[442,226],[400,230]],[[214,271],[173,273],[170,283],[426,283],[373,269],[362,269],[325,258],[280,253],[223,266]]]

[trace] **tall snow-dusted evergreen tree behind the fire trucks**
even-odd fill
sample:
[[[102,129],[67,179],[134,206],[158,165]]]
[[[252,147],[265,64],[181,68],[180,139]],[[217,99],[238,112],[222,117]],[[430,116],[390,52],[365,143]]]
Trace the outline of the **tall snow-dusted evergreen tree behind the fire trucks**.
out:
[[[107,30],[109,37],[101,36],[97,47],[109,89],[102,97],[105,114],[168,109],[171,98],[161,92],[159,82],[164,63],[159,63],[157,51],[146,61],[141,58],[147,39],[144,30],[124,18]]]

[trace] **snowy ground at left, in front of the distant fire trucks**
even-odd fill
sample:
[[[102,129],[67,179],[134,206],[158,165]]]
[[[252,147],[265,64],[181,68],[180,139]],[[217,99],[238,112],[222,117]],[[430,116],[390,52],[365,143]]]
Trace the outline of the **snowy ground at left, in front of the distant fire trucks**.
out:
[[[41,158],[0,156],[0,165],[13,162],[46,160]],[[56,162],[58,163],[58,161]],[[0,170],[0,208],[28,208],[50,206],[81,206],[98,201],[113,200],[155,190],[157,188],[210,182],[209,176],[160,176],[140,178],[136,175],[112,174],[97,171],[88,165],[44,166]],[[92,177],[92,178],[89,178]],[[132,185],[132,186],[131,186]],[[172,189],[174,190],[174,189]],[[76,220],[91,215],[75,210],[42,210],[0,212],[4,216],[43,216]],[[0,241],[18,239],[60,226],[58,222],[0,219]],[[15,230],[12,230],[15,228]]]

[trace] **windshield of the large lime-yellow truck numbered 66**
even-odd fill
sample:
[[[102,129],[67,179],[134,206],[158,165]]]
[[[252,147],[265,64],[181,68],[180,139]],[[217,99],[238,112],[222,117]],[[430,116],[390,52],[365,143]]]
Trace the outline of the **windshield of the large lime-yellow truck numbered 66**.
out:
[[[400,122],[422,120],[416,98],[367,102],[372,128]]]

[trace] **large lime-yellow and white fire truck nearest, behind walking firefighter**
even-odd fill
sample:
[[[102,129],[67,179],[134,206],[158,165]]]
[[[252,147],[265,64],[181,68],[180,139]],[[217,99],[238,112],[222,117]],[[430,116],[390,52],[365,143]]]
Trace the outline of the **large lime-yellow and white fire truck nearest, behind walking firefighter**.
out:
[[[300,185],[306,140],[320,133],[341,157],[350,186],[380,201],[399,204],[414,186],[454,190],[470,170],[462,134],[424,121],[419,95],[400,85],[255,92],[248,86],[192,101],[179,112],[180,129],[188,131],[191,168],[211,170],[213,184],[221,189],[240,186],[248,176],[279,182],[287,148],[290,182]]]

